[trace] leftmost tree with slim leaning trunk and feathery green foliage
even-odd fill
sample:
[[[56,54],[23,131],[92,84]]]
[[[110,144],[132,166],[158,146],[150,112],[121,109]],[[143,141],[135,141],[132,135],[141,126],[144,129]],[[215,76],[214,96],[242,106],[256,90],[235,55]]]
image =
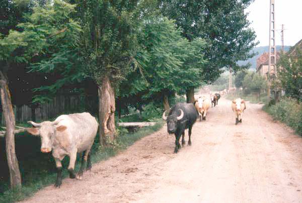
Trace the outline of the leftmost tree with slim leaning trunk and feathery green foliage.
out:
[[[3,112],[5,115],[7,133],[6,150],[10,168],[11,186],[21,185],[18,160],[15,154],[15,116],[9,90],[8,71],[12,63],[29,64],[34,57],[41,57],[49,51],[52,43],[58,39],[65,42],[73,41],[74,33],[79,32],[79,25],[69,19],[73,6],[61,1],[54,1],[46,9],[36,7],[28,21],[18,24],[19,31],[10,30],[9,34],[0,40],[0,87]],[[74,42],[74,41],[73,41]],[[60,53],[60,50],[57,49]]]

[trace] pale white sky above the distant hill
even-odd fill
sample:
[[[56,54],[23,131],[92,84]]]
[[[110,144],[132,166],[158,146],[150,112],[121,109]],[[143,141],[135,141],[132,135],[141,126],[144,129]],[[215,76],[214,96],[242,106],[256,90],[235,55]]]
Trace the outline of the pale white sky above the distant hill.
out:
[[[270,0],[255,0],[246,12],[248,20],[256,32],[260,43],[269,43],[269,6]],[[284,45],[293,46],[302,39],[302,0],[275,0],[276,45],[281,45],[281,25],[284,24]]]

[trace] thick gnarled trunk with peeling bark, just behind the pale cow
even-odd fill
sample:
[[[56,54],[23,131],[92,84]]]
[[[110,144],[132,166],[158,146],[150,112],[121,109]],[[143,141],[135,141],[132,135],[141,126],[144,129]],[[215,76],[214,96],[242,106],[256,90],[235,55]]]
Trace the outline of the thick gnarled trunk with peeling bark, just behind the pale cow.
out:
[[[115,97],[114,89],[108,76],[102,80],[98,87],[99,92],[99,123],[100,144],[107,145],[115,139],[114,124]]]

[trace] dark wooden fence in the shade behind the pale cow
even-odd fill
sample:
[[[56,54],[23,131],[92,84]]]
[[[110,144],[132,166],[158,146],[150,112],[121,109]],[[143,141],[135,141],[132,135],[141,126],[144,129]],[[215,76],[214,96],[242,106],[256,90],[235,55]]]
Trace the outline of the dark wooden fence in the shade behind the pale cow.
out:
[[[14,106],[16,124],[26,123],[33,120],[44,121],[55,119],[56,116],[64,113],[78,113],[84,111],[80,94],[57,95],[48,103],[42,104],[36,109],[32,109],[27,105]],[[32,113],[35,114],[33,117]],[[1,125],[5,125],[4,116],[1,113]]]

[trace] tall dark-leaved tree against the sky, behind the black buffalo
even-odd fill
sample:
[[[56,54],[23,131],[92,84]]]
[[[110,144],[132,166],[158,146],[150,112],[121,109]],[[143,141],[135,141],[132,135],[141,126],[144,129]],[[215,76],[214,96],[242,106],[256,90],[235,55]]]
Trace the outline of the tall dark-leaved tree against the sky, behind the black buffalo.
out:
[[[251,2],[253,0],[159,1],[163,14],[176,20],[184,37],[189,41],[202,38],[210,43],[210,48],[204,52],[209,62],[203,70],[205,82],[215,81],[224,67],[235,72],[246,68],[236,62],[253,56],[250,51],[257,44],[254,42],[256,35],[249,28],[248,14],[244,13]]]

